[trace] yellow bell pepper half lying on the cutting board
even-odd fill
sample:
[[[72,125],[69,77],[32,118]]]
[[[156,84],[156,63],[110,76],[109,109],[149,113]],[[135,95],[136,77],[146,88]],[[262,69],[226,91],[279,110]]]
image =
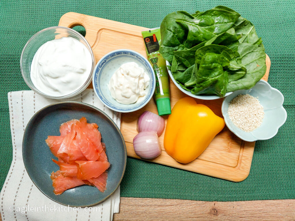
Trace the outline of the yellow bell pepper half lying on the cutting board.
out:
[[[164,148],[176,161],[187,164],[203,153],[224,125],[224,119],[206,105],[182,98],[168,117]]]

